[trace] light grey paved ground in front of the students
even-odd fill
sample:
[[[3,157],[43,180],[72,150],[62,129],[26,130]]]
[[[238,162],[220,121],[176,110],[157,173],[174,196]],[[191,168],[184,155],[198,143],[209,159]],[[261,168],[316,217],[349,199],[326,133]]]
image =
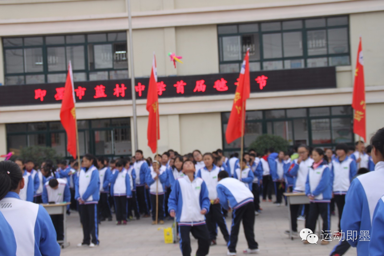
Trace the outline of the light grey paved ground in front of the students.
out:
[[[337,241],[332,241],[324,246],[320,244],[303,244],[300,240],[291,241],[283,234],[288,229],[288,209],[285,206],[276,207],[272,203],[262,203],[263,213],[256,217],[255,236],[259,243],[260,255],[303,255],[303,256],[327,256]],[[131,221],[127,226],[116,226],[114,221],[103,222],[100,225],[98,248],[76,248],[76,244],[82,240],[82,229],[79,224],[79,216],[72,213],[68,221],[68,241],[70,247],[62,250],[62,256],[174,256],[181,255],[178,244],[164,244],[162,230],[158,227],[170,227],[172,221],[165,225],[152,226],[151,219]],[[231,219],[227,218],[230,227]],[[331,217],[331,229],[337,230],[338,219]],[[298,230],[304,228],[304,221],[298,221]],[[320,236],[319,236],[320,237]],[[321,239],[321,237],[320,237]],[[211,246],[209,255],[226,255],[227,248],[221,234],[217,239],[218,245]],[[242,250],[247,248],[247,243],[240,229],[237,244],[238,255],[243,255]],[[197,241],[192,238],[193,254],[197,249]],[[349,249],[346,256],[356,255],[356,249]]]

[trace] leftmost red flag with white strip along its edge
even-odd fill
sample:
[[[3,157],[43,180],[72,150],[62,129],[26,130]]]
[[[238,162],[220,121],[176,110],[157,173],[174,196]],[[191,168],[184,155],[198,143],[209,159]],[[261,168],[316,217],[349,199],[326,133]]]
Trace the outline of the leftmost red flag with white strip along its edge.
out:
[[[76,110],[74,103],[73,75],[71,62],[68,64],[68,75],[65,81],[63,101],[61,101],[60,121],[67,133],[67,150],[76,159]]]

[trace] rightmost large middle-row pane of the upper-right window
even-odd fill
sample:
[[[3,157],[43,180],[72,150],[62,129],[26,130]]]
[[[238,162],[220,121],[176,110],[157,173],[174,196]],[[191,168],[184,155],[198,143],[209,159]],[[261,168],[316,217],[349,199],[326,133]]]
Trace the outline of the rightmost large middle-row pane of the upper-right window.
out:
[[[348,29],[328,29],[328,53],[348,53]]]

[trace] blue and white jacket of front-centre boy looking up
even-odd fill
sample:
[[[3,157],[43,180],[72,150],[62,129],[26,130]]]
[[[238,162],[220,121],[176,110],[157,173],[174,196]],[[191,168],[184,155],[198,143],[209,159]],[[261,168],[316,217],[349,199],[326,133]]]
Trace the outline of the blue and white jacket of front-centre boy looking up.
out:
[[[210,201],[207,186],[202,178],[190,181],[185,175],[175,181],[168,198],[168,211],[176,213],[179,226],[198,226],[205,224],[205,216],[200,211],[209,212]]]

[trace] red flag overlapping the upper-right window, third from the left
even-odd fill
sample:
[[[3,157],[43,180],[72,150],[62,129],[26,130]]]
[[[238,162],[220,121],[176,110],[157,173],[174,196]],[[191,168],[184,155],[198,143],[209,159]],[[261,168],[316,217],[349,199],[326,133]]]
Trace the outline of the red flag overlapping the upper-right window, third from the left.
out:
[[[237,138],[240,138],[244,134],[245,101],[249,98],[249,94],[249,50],[247,50],[238,79],[232,111],[228,120],[227,131],[225,132],[225,138],[227,139],[228,144]]]

